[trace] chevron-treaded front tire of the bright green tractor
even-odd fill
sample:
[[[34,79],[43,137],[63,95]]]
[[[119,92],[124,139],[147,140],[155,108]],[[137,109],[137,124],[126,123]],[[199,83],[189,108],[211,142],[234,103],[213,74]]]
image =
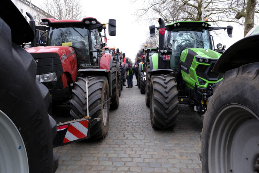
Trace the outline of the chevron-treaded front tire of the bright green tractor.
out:
[[[150,81],[150,118],[153,128],[172,129],[177,122],[178,91],[175,77],[154,75]]]

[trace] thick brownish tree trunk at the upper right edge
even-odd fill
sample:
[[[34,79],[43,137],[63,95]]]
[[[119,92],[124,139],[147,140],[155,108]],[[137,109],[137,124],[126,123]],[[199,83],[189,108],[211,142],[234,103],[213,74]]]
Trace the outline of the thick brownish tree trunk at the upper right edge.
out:
[[[247,0],[244,36],[254,27],[255,5],[256,0]]]

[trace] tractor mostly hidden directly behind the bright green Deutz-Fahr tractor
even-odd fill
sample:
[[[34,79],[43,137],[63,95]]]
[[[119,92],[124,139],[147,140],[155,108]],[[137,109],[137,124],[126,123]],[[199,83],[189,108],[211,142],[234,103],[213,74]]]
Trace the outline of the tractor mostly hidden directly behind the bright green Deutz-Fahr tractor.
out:
[[[142,58],[142,62],[138,64],[139,66],[139,88],[140,93],[145,94],[146,93],[146,76],[147,76],[147,61],[146,59],[149,58],[149,56],[153,55],[153,53],[158,52],[158,48],[148,48],[147,45],[145,45],[146,50],[143,51],[145,56]],[[144,49],[143,49],[144,50]]]

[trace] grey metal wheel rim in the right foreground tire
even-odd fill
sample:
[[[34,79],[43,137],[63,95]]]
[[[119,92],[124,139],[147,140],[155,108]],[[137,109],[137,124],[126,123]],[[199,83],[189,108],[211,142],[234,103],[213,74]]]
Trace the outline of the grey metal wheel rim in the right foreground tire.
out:
[[[244,105],[232,103],[219,110],[208,141],[208,171],[254,172],[259,156],[259,120]]]

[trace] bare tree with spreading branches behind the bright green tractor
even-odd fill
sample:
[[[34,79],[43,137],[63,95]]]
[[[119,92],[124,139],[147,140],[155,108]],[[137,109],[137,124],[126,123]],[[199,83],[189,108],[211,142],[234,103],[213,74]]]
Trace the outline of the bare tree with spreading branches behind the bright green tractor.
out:
[[[139,17],[148,16],[149,20],[161,17],[167,24],[200,21],[204,17],[216,25],[218,22],[244,25],[245,34],[254,27],[254,13],[259,13],[256,0],[144,0],[144,4],[137,11]]]

